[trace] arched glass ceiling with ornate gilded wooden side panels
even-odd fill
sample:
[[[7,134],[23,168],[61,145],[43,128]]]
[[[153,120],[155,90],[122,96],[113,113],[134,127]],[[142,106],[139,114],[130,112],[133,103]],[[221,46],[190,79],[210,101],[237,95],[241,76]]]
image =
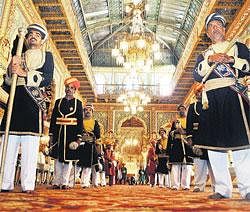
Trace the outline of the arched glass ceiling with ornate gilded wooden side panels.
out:
[[[210,45],[203,24],[207,14],[218,12],[225,16],[230,38],[246,28],[250,13],[247,0],[33,0],[33,3],[68,71],[81,81],[80,94],[95,102],[107,102],[105,92],[97,92],[96,70],[119,70],[111,51],[117,36],[130,30],[134,9],[142,11],[145,31],[161,43],[162,57],[156,66],[175,67],[171,95],[155,95],[151,100],[159,104],[178,104],[188,98],[194,83],[195,59]],[[160,70],[168,74],[168,69]],[[116,86],[115,81],[112,83]],[[108,101],[116,102],[115,95]]]

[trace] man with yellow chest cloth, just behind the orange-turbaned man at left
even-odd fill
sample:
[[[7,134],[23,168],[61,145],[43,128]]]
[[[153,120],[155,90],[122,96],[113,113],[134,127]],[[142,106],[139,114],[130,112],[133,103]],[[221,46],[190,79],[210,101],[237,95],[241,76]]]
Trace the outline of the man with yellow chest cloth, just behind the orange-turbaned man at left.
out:
[[[98,186],[96,172],[98,170],[98,153],[96,150],[96,140],[100,138],[100,126],[93,118],[94,107],[86,104],[83,108],[83,137],[79,146],[79,163],[82,167],[81,185],[83,188],[90,187],[90,177],[92,173],[92,185]]]

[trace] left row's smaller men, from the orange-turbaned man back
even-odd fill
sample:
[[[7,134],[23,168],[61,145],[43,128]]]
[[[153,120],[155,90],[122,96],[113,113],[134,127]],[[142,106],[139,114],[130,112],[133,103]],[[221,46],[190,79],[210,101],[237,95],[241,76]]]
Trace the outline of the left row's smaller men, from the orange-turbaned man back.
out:
[[[82,107],[80,100],[74,98],[79,86],[76,78],[67,78],[66,95],[56,100],[52,112],[49,135],[50,156],[55,159],[53,189],[73,187],[70,179],[75,179],[74,173],[80,175],[82,188],[106,186],[106,176],[111,186],[120,166],[115,158],[113,139],[109,138],[107,144],[100,139],[100,125],[93,118],[93,105],[87,103]]]

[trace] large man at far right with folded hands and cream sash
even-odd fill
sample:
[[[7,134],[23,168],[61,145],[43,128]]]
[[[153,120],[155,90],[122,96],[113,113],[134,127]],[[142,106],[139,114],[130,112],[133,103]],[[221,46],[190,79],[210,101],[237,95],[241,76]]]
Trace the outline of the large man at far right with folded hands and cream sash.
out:
[[[210,14],[205,27],[212,45],[198,56],[194,78],[204,84],[198,147],[208,149],[215,177],[215,193],[209,198],[232,197],[227,154],[232,150],[238,189],[250,200],[250,108],[244,84],[250,75],[249,50],[242,43],[226,41],[226,20],[220,14]]]

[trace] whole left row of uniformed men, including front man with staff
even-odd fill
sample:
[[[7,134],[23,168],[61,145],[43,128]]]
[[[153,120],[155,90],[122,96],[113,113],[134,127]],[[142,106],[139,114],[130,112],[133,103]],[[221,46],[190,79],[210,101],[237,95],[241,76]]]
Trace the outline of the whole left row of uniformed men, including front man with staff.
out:
[[[45,27],[31,24],[27,28],[22,55],[15,55],[16,49],[12,50],[13,56],[5,76],[4,89],[10,92],[12,74],[17,74],[18,80],[6,157],[1,161],[4,167],[1,173],[1,192],[11,192],[14,189],[18,155],[21,155],[22,192],[33,193],[35,189],[40,137],[43,135],[43,118],[46,114],[45,100],[40,94],[41,89],[52,83],[54,73],[53,56],[43,48],[47,38]],[[15,41],[16,44],[19,40]],[[15,47],[18,45],[19,43]],[[111,145],[104,149],[102,144],[96,142],[100,138],[100,126],[93,118],[94,108],[91,104],[83,107],[82,102],[74,97],[80,82],[74,77],[68,77],[64,85],[65,96],[56,100],[49,128],[49,156],[54,159],[55,164],[53,189],[69,188],[72,184],[71,173],[75,167],[81,169],[83,188],[90,186],[91,176],[93,184],[97,185],[98,175],[101,184],[106,185],[104,170],[109,166],[108,162],[113,161],[113,149]],[[1,123],[1,134],[5,134],[7,116],[6,109]],[[105,161],[108,162],[105,164]]]

